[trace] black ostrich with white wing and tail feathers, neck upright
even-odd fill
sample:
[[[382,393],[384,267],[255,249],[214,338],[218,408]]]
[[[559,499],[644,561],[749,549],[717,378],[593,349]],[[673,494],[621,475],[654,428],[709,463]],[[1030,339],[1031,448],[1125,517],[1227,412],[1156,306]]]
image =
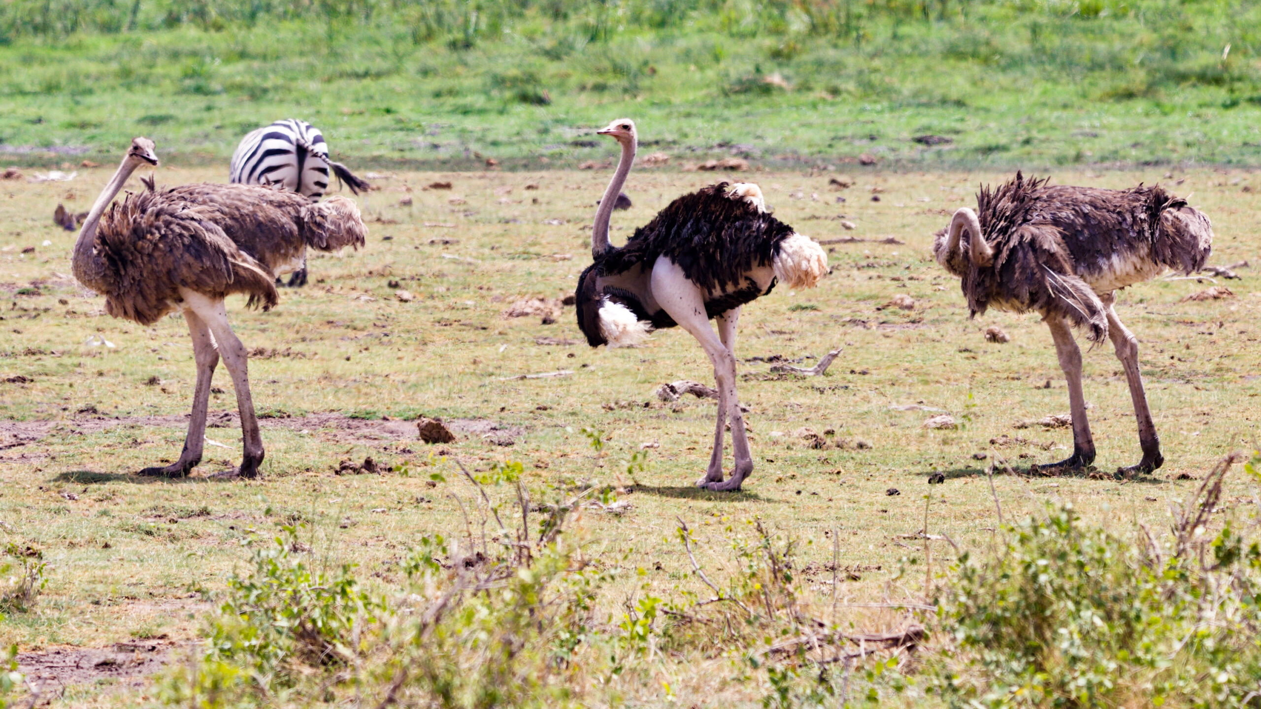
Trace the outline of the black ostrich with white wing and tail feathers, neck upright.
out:
[[[827,255],[807,236],[767,213],[755,184],[719,183],[675,199],[625,246],[609,243],[609,217],[636,153],[636,127],[619,119],[598,131],[622,144],[622,159],[591,228],[594,262],[575,293],[578,327],[591,347],[636,344],[651,328],[680,325],[695,337],[718,384],[714,452],[697,487],[736,491],[753,472],[744,418],[735,392],[735,325],[740,307],[788,288],[813,286]],[[718,334],[710,319],[718,320]],[[735,467],[723,477],[723,434],[730,421]]]

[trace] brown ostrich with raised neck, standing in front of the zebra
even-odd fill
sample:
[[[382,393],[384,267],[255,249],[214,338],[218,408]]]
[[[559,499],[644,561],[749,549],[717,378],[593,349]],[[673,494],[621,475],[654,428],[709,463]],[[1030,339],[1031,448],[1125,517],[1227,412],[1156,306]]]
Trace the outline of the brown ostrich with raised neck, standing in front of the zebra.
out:
[[[156,165],[158,155],[151,140],[137,138],[83,221],[73,255],[74,278],[105,295],[107,313],[148,325],[179,309],[193,337],[197,389],[184,450],[175,463],[141,474],[183,476],[200,462],[211,377],[222,354],[245,438],[245,455],[233,473],[255,477],[262,438],[250,397],[246,349],[228,324],[223,299],[242,293],[250,305],[266,310],[276,304],[274,269],[306,246],[358,247],[367,228],[344,197],[313,204],[293,192],[241,184],[155,189],[150,179],[146,192],[127,193],[111,206],[144,164]]]

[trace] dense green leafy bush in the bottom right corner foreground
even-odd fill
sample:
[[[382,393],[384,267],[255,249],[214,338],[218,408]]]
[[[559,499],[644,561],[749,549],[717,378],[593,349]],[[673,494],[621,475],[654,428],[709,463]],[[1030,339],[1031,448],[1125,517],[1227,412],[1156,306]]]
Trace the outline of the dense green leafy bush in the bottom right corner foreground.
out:
[[[952,706],[1246,706],[1261,676],[1261,544],[1209,532],[1218,466],[1165,544],[1083,525],[1071,505],[965,554],[941,599],[933,689]]]

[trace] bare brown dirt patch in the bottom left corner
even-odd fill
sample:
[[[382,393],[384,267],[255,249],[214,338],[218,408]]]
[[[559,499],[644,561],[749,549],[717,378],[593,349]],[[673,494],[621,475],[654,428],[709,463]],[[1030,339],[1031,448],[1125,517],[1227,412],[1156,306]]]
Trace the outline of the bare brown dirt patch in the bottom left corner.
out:
[[[177,643],[169,640],[117,642],[107,647],[58,647],[18,655],[18,671],[40,696],[102,679],[125,680],[158,672],[170,662]]]

